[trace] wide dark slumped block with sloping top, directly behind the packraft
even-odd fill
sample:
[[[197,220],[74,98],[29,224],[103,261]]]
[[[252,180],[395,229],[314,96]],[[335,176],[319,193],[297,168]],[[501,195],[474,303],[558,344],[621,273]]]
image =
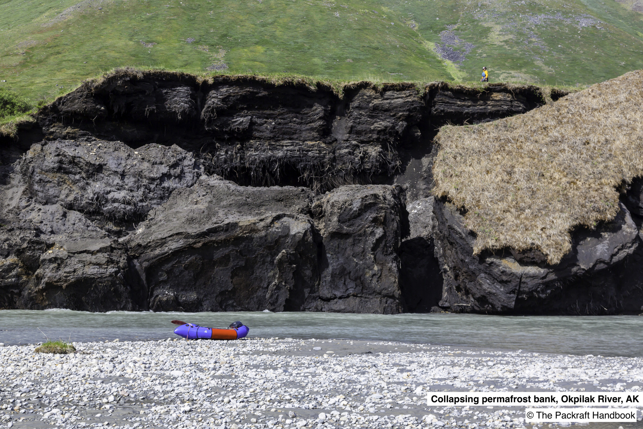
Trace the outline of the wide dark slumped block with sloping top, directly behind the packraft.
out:
[[[205,177],[175,192],[127,239],[150,308],[301,310],[319,269],[311,201],[306,188]]]

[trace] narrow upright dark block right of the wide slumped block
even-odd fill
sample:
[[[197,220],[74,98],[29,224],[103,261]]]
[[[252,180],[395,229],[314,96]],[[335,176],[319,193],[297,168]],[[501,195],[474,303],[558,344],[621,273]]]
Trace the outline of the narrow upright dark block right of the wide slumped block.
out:
[[[317,199],[312,212],[324,246],[320,311],[395,314],[403,308],[397,250],[406,203],[401,187],[341,187]],[[356,246],[356,243],[361,243]],[[365,273],[356,276],[350,273]]]

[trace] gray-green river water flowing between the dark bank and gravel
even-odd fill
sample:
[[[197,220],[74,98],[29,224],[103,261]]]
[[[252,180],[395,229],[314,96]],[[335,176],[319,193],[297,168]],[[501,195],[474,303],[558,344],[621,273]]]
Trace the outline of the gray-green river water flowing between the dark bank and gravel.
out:
[[[643,356],[643,316],[484,316],[453,314],[152,313],[1,310],[0,342],[38,343],[177,338],[171,320],[227,327],[240,320],[249,336],[431,343],[603,356]]]

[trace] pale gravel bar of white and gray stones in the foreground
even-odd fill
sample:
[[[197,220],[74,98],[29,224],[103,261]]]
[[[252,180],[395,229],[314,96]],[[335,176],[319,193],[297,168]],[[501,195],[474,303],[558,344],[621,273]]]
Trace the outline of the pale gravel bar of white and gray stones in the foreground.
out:
[[[641,358],[293,338],[74,345],[68,355],[0,348],[0,427],[531,429],[523,407],[425,398],[643,387]],[[555,426],[566,424],[543,427]]]

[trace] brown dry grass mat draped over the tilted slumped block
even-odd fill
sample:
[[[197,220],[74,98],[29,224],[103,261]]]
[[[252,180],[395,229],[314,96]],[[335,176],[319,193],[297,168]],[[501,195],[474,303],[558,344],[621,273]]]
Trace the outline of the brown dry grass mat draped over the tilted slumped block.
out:
[[[436,140],[434,192],[466,208],[474,252],[538,249],[556,264],[570,230],[613,219],[617,188],[643,175],[643,71]]]

